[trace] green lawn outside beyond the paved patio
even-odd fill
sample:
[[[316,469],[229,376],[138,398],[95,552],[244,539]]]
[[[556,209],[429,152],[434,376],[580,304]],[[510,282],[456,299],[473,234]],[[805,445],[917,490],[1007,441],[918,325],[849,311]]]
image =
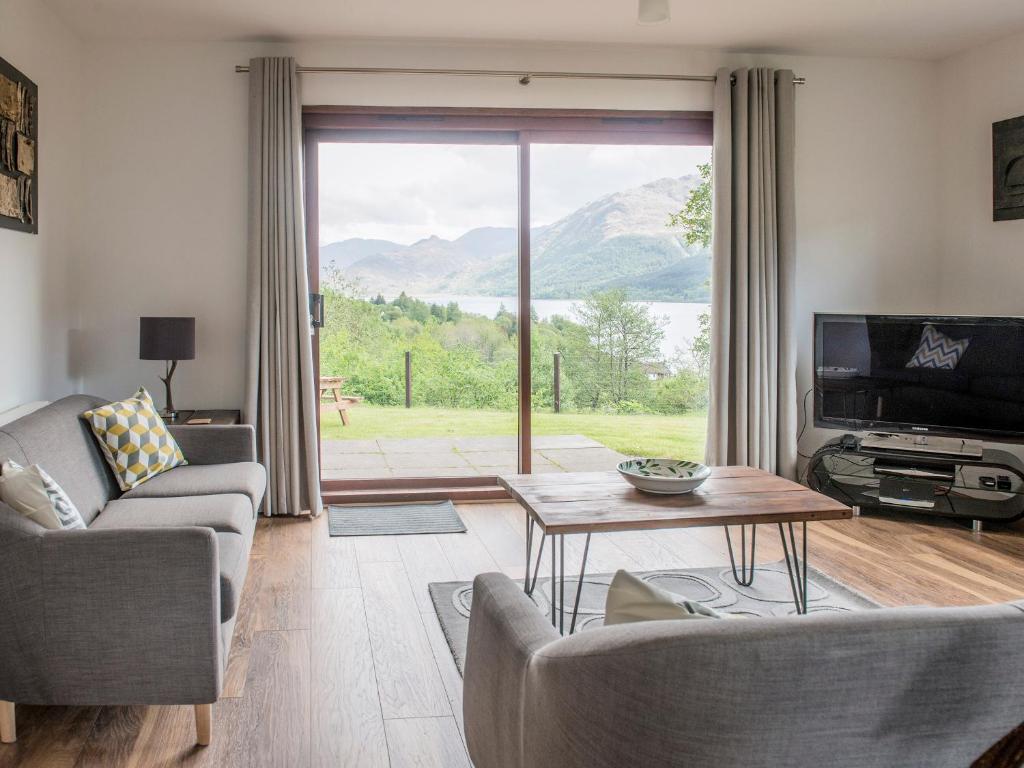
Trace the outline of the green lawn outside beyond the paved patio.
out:
[[[504,411],[441,408],[384,408],[360,404],[349,411],[351,424],[336,414],[321,422],[326,440],[375,437],[486,437],[515,435],[516,415]],[[534,434],[582,434],[629,456],[702,461],[708,414],[682,416],[613,414],[534,414]]]

